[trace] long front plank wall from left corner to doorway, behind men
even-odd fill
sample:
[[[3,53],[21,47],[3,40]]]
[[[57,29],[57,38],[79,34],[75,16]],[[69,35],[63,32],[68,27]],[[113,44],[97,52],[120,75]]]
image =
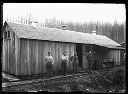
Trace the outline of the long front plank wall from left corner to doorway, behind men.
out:
[[[20,75],[45,73],[45,57],[48,55],[48,51],[52,52],[55,60],[54,71],[59,71],[61,69],[61,55],[63,52],[67,52],[67,55],[71,57],[75,51],[75,44],[20,39]],[[71,67],[71,64],[68,63],[68,69]]]

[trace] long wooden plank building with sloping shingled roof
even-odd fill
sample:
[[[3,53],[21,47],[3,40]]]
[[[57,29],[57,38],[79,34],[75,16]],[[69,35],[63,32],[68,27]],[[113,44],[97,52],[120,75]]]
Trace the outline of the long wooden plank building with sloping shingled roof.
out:
[[[2,70],[15,75],[45,73],[48,51],[55,60],[55,71],[61,69],[63,52],[71,57],[76,51],[82,69],[88,69],[90,50],[95,58],[112,59],[116,65],[120,64],[120,45],[102,35],[5,22],[3,37]],[[68,69],[72,70],[71,62]]]

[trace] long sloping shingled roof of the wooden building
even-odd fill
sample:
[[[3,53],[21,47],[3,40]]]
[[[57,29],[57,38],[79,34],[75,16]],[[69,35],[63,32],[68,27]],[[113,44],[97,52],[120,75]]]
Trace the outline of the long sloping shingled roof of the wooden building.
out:
[[[61,41],[71,43],[95,44],[108,48],[121,46],[110,38],[102,35],[94,35],[70,30],[62,30],[48,27],[33,27],[31,25],[7,23],[18,38],[38,39],[49,41]]]

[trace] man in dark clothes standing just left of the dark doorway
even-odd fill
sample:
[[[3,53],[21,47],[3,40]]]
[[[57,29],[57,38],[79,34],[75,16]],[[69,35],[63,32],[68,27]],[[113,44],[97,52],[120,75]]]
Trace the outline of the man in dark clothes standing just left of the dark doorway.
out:
[[[73,73],[77,73],[78,71],[78,56],[77,56],[77,52],[75,52],[74,56],[72,57],[72,60],[73,60]]]

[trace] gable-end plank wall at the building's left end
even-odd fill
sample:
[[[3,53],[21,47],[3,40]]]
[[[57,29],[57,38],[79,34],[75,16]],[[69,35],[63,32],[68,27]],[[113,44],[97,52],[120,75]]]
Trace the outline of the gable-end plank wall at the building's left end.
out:
[[[11,38],[3,40],[3,71],[18,75],[20,74],[19,39],[8,25],[6,27],[10,31]]]

